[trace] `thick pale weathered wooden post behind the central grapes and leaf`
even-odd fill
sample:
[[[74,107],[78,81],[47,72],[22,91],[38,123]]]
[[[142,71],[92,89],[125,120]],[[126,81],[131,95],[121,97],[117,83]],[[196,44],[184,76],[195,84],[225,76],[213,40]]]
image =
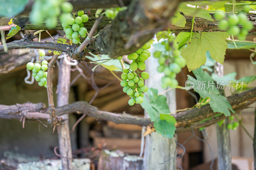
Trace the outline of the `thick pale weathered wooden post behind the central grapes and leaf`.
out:
[[[154,49],[150,48],[150,52],[153,54]],[[162,73],[158,73],[156,70],[157,59],[149,57],[146,61],[146,71],[151,75],[146,81],[148,87],[154,87],[158,91],[164,91],[161,87]],[[152,77],[154,75],[154,77]],[[176,97],[175,90],[170,90],[164,94],[167,98],[167,104],[170,111],[176,110]],[[146,113],[146,117],[149,115]],[[176,169],[176,137],[172,139],[166,138],[158,134],[156,131],[145,137],[145,148],[143,156],[143,168],[145,170],[155,169]]]

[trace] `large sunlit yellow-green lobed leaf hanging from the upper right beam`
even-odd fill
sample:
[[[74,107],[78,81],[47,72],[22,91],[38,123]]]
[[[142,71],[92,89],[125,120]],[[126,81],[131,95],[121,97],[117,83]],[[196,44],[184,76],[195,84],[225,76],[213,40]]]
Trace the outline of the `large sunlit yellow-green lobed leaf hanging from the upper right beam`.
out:
[[[223,64],[226,54],[228,38],[227,32],[202,32],[193,33],[191,43],[181,51],[181,56],[186,60],[188,70],[194,70],[204,65],[206,61],[205,53],[209,51],[212,59]]]

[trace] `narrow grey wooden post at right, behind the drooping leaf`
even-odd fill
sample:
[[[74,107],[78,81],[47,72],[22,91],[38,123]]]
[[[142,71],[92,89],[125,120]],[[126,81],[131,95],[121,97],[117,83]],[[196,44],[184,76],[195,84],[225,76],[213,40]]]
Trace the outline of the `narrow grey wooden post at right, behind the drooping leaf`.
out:
[[[216,62],[214,72],[220,77],[224,75],[223,65]],[[221,95],[224,95],[224,90],[219,90]],[[231,164],[231,149],[230,149],[230,135],[227,128],[228,118],[223,120],[220,126],[216,124],[217,144],[218,144],[218,169],[219,170],[232,170]]]

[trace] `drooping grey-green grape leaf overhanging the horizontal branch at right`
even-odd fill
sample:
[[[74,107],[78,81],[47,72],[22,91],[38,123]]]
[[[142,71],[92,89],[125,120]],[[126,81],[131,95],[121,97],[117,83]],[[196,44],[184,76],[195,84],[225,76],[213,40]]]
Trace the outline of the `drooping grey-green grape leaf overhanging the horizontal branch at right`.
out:
[[[216,89],[215,83],[208,73],[204,72],[200,67],[193,70],[193,74],[196,76],[196,79],[188,75],[188,80],[195,84],[194,90],[202,98],[211,98],[209,104],[214,112],[224,113],[225,116],[230,116],[230,111],[235,113],[227,98],[220,95],[219,90]]]

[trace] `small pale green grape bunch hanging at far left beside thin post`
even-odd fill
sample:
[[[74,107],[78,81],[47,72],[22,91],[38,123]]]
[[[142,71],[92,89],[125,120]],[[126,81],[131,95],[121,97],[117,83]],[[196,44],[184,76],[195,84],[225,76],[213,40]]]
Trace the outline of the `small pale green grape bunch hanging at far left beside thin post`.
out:
[[[43,57],[45,55],[44,50],[39,50],[40,57]],[[36,81],[38,81],[39,86],[44,86],[47,88],[47,72],[48,69],[47,66],[48,62],[46,60],[43,60],[42,63],[27,63],[28,70],[32,70],[32,76],[35,78]]]

